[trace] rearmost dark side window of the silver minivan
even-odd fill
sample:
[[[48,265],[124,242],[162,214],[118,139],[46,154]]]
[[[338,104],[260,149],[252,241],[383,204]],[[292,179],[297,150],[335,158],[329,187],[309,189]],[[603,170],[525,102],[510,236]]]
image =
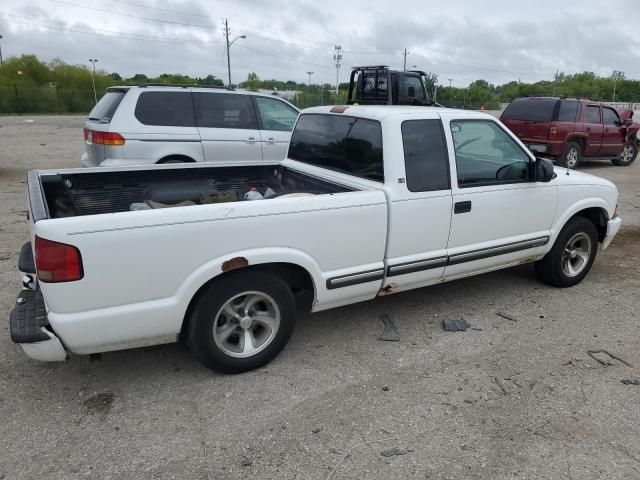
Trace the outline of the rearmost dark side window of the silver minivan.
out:
[[[144,92],[138,97],[135,116],[145,125],[196,125],[190,92]]]

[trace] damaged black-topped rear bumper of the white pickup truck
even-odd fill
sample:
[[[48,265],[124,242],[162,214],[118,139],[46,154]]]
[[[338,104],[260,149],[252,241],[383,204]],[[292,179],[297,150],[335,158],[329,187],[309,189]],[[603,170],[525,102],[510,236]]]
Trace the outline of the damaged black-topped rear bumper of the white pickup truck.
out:
[[[11,340],[35,360],[63,361],[67,352],[53,333],[40,290],[22,290],[9,315]]]

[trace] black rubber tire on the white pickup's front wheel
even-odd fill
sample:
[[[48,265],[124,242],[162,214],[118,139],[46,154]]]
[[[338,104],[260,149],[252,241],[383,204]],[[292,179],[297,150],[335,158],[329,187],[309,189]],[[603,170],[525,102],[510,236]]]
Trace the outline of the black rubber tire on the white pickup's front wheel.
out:
[[[569,262],[573,266],[574,260],[580,261],[582,257],[578,258],[581,254],[576,255],[576,251],[582,253],[582,247],[573,248],[572,252],[574,256],[567,255],[565,248],[567,248],[572,240],[577,239],[578,243],[575,245],[586,245],[587,238],[590,242],[588,260],[584,261],[584,264],[580,264],[580,270],[575,275],[567,274],[567,270],[572,268],[565,267],[567,257]],[[580,243],[580,239],[582,243]],[[571,219],[562,229],[560,235],[553,244],[551,251],[545,255],[542,260],[535,263],[536,273],[543,282],[553,285],[558,288],[572,287],[580,283],[584,277],[587,276],[598,252],[598,231],[596,230],[593,222],[584,217],[574,217]],[[584,260],[584,259],[583,259]],[[577,262],[576,262],[577,264]]]

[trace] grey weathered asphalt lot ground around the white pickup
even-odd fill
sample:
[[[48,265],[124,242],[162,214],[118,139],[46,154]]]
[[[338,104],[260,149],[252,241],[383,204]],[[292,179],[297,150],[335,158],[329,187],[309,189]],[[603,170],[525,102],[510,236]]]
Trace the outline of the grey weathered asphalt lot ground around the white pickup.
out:
[[[8,332],[24,182],[78,166],[81,125],[0,117],[0,479],[640,478],[640,161],[583,167],[625,224],[577,287],[523,266],[307,315],[239,376],[181,344],[42,364]]]

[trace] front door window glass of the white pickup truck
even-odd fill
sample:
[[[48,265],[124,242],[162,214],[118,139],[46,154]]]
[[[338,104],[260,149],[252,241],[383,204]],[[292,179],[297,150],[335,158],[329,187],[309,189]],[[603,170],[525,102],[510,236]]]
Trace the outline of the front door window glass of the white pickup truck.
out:
[[[496,123],[451,122],[458,185],[474,187],[529,179],[529,156]]]

